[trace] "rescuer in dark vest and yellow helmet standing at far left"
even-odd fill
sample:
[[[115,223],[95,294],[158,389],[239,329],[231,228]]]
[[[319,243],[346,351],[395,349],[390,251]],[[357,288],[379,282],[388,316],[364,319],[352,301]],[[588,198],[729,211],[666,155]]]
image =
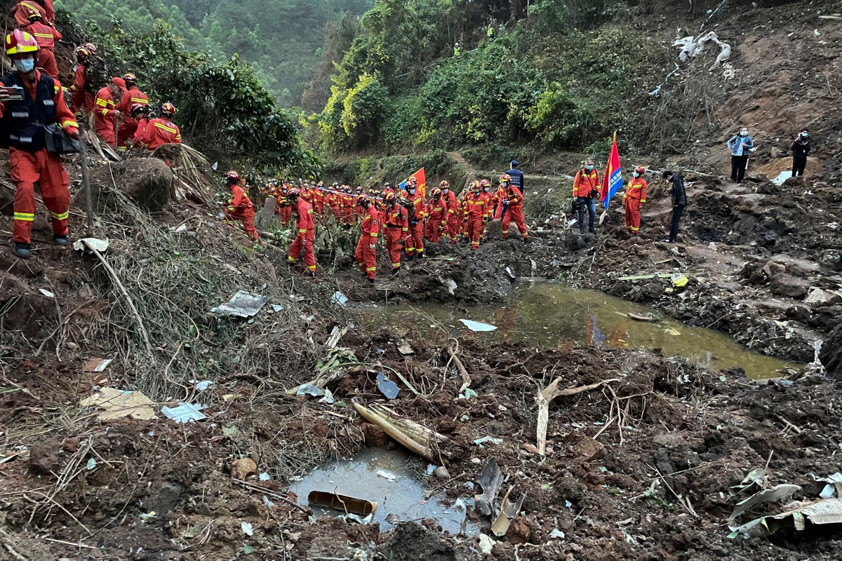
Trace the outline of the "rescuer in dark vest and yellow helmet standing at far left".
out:
[[[70,209],[69,179],[61,157],[46,149],[45,125],[57,124],[78,138],[76,119],[67,108],[61,84],[35,67],[38,42],[20,29],[6,35],[6,54],[15,71],[2,78],[0,88],[0,130],[8,133],[8,159],[15,186],[12,252],[29,259],[29,237],[35,220],[35,183],[52,217],[53,241],[67,246],[67,216]],[[12,89],[15,88],[15,89]],[[12,99],[13,97],[22,99]]]

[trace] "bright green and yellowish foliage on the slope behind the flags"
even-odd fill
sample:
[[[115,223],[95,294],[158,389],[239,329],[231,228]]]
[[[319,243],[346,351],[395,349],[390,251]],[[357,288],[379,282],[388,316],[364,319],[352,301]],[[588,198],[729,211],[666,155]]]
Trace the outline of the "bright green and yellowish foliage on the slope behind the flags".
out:
[[[673,53],[623,25],[624,9],[618,0],[376,0],[321,113],[302,119],[306,138],[346,151],[584,148],[617,129],[633,137],[626,108],[645,104],[646,72]]]

